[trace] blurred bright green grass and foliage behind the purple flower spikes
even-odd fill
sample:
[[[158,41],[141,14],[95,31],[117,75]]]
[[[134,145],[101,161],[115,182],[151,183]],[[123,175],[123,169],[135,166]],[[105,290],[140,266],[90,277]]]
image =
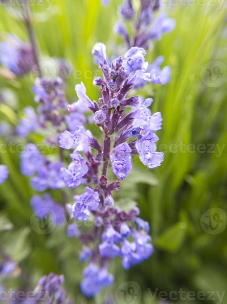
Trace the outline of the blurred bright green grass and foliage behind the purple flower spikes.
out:
[[[109,56],[124,51],[122,40],[113,34],[118,19],[117,1],[112,0],[105,8],[101,0],[54,0],[48,10],[49,4],[43,3],[46,7],[35,6],[33,15],[43,58],[67,58],[82,72],[81,78],[75,79],[72,74],[67,80],[68,100],[75,98],[74,87],[80,81],[87,87],[88,96],[98,100],[99,90],[84,71],[94,71],[91,50],[95,42],[104,42]],[[176,19],[176,28],[155,42],[146,57],[152,62],[163,55],[165,65],[172,69],[168,85],[148,84],[140,92],[154,99],[152,112],[162,113],[164,121],[158,132],[158,147],[165,152],[165,160],[161,167],[148,170],[135,158],[134,170],[116,196],[120,206],[138,202],[141,217],[151,225],[155,252],[148,261],[125,271],[121,259],[117,259],[110,269],[115,274],[113,286],[95,300],[87,300],[79,291],[84,267],[78,261],[79,240],[66,239],[63,228],[56,228],[49,235],[38,235],[31,229],[29,201],[34,191],[28,179],[20,174],[19,155],[10,151],[1,153],[0,163],[8,166],[10,176],[0,186],[0,231],[7,230],[10,222],[14,228],[1,232],[0,241],[34,282],[32,287],[41,275],[54,271],[65,275],[68,295],[80,304],[103,303],[106,295],[114,294],[127,281],[139,284],[144,304],[152,302],[150,291],[156,288],[158,292],[182,288],[186,292],[207,294],[203,301],[178,298],[178,303],[185,304],[218,303],[217,293],[213,300],[208,299],[209,291],[226,290],[227,10],[218,9],[217,1],[207,1],[203,6],[199,3],[165,7],[169,16]],[[7,32],[26,40],[24,25],[12,12],[0,7],[0,16],[1,40]],[[15,125],[24,106],[35,106],[32,77],[27,75],[12,81],[1,77],[0,86],[13,90],[18,108],[12,110],[7,104],[0,104],[0,119]],[[8,144],[10,140],[2,138],[1,143]],[[41,141],[41,138],[33,136],[31,140]],[[71,192],[68,197],[72,198]],[[211,208],[221,211],[208,211]],[[222,223],[216,222],[216,213]],[[209,226],[209,217],[213,227],[219,226],[217,230]],[[21,277],[8,284],[26,286]],[[227,293],[220,303],[227,303]]]

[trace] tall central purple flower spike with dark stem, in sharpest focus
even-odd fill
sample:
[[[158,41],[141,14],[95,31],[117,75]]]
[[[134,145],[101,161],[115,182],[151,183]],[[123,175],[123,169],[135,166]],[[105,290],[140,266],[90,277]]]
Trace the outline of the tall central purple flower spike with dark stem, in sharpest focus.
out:
[[[151,5],[150,1],[146,1],[142,7],[152,8],[150,13],[158,7]],[[100,98],[91,105],[90,99],[87,101],[84,96],[86,91],[82,90],[81,96],[78,94],[79,101],[69,107],[75,113],[81,113],[83,104],[86,104],[87,110],[92,110],[93,122],[103,133],[102,142],[98,142],[89,130],[85,131],[79,125],[74,133],[65,131],[60,135],[62,148],[69,150],[76,147],[70,154],[73,161],[68,169],[61,168],[65,185],[75,188],[82,183],[86,184],[86,191],[74,196],[75,203],[73,206],[66,204],[66,208],[70,217],[76,221],[86,221],[92,215],[95,223],[88,233],[79,233],[77,226],[76,229],[70,226],[67,231],[69,236],[78,236],[82,241],[83,249],[79,255],[81,262],[90,260],[80,285],[87,297],[97,295],[103,287],[112,284],[113,276],[107,271],[111,259],[122,257],[123,267],[129,269],[153,253],[148,222],[138,217],[138,208],[126,212],[115,207],[117,202],[114,202],[112,191],[119,190],[120,181],[109,183],[107,177],[111,163],[113,173],[119,179],[125,179],[132,169],[133,154],[139,155],[148,168],[160,166],[164,157],[163,153],[156,151],[158,137],[154,133],[161,129],[161,113],[151,113],[148,107],[152,104],[152,98],[129,95],[131,89],[135,92],[146,82],[166,83],[169,78],[169,69],[160,68],[163,57],[158,57],[152,65],[145,61],[146,50],[143,46],[146,46],[147,28],[150,29],[148,25],[152,22],[152,16],[145,13],[143,11],[139,14],[137,26],[139,29],[140,25],[146,25],[146,30],[141,30],[142,36],[137,33],[135,45],[129,47],[124,59],[120,56],[109,62],[105,45],[95,44],[92,54],[103,77],[94,78],[93,84],[100,86]],[[133,15],[134,8],[131,0],[128,0],[127,9],[122,10],[122,17],[130,19]],[[130,46],[126,28],[122,24],[119,27],[118,31]],[[129,238],[132,241],[129,242]]]

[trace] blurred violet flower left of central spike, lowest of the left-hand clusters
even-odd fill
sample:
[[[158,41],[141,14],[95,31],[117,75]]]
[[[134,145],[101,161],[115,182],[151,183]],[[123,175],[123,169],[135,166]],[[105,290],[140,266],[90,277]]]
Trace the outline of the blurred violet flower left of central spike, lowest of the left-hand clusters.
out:
[[[61,226],[64,223],[64,208],[57,204],[49,194],[44,194],[43,196],[34,195],[30,204],[39,219],[50,217],[57,226]]]

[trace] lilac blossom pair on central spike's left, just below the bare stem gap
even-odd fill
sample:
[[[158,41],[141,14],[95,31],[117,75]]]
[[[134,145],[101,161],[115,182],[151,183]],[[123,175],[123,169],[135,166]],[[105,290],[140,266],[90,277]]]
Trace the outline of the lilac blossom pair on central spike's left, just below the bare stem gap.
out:
[[[76,220],[86,221],[90,216],[90,210],[95,211],[99,207],[99,195],[92,188],[86,187],[86,192],[79,196],[79,203],[73,205],[73,216]]]

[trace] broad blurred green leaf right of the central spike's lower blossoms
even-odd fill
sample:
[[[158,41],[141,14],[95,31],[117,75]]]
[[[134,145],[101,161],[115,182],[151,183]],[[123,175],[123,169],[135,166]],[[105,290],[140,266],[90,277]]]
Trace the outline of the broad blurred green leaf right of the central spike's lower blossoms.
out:
[[[179,222],[169,227],[156,241],[157,247],[169,252],[177,251],[184,241],[186,228],[187,226],[184,222]]]

